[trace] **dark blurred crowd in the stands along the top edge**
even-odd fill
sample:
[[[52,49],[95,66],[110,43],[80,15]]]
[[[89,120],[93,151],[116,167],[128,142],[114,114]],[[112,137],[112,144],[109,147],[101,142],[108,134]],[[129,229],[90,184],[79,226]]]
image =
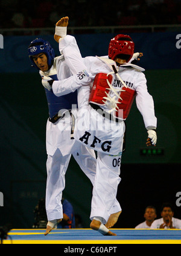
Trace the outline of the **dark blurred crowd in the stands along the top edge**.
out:
[[[181,24],[180,0],[1,0],[0,29]]]

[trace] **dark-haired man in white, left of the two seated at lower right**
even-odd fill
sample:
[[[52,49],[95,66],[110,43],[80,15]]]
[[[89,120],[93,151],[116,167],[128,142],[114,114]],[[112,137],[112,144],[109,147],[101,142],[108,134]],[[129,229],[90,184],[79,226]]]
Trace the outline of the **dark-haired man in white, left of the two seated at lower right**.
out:
[[[135,229],[150,229],[151,224],[156,218],[156,209],[154,206],[147,206],[144,213],[145,221],[138,224]]]

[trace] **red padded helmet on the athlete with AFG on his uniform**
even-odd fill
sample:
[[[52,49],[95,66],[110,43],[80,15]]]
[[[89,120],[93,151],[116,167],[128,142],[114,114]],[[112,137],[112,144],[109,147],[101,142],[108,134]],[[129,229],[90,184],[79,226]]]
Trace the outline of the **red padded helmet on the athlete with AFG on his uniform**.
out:
[[[109,43],[108,55],[110,59],[115,60],[118,55],[129,55],[129,59],[132,58],[135,49],[135,44],[128,35],[116,35],[112,38]]]

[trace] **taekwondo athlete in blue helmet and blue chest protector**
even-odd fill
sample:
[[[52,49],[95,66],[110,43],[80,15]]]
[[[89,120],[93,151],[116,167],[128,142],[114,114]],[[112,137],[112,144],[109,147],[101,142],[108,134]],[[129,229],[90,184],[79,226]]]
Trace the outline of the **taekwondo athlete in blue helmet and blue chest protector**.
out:
[[[57,70],[60,78],[72,75],[63,55],[54,56],[54,50],[49,42],[36,38],[28,46],[28,56],[31,63],[39,70],[43,78],[57,80]],[[65,173],[71,154],[80,168],[94,185],[96,158],[94,150],[72,140],[72,105],[77,106],[77,92],[56,96],[52,90],[45,88],[48,102],[49,118],[46,123],[46,214],[48,223],[45,235],[57,226],[63,218],[62,191],[65,188]],[[72,114],[72,113],[71,113]],[[66,124],[66,125],[65,125]]]

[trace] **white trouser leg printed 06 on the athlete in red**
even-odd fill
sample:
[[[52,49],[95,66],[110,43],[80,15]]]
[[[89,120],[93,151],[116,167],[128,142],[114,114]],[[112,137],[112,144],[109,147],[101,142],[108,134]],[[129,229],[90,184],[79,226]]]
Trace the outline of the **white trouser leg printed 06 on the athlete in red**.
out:
[[[107,223],[110,214],[121,211],[116,200],[120,175],[121,155],[98,152],[97,171],[92,194],[90,220],[101,217]]]

